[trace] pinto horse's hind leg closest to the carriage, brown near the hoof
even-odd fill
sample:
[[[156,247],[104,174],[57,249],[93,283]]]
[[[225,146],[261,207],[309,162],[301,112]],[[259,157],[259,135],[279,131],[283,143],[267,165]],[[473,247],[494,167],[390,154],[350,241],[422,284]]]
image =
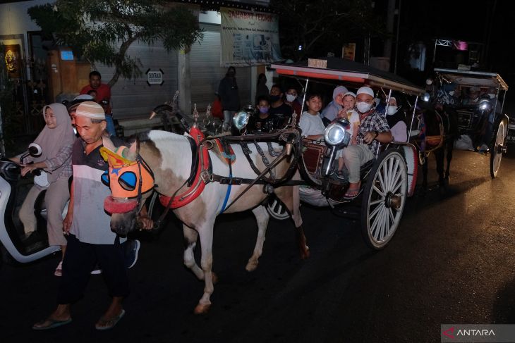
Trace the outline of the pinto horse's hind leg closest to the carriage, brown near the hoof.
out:
[[[297,175],[298,172],[295,176]],[[293,177],[293,180],[297,180],[297,178]],[[291,214],[291,218],[293,218],[298,251],[301,253],[301,258],[304,260],[310,256],[310,251],[308,245],[306,244],[304,229],[302,227],[301,196],[298,192],[298,186],[281,187],[278,189],[276,194],[279,200],[281,200],[283,204],[286,205],[286,208],[288,208],[288,211]]]

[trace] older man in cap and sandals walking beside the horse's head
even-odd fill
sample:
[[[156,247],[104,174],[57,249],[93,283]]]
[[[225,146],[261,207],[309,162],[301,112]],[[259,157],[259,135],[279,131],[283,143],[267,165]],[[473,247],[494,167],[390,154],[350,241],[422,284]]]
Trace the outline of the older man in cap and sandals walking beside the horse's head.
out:
[[[102,266],[112,301],[95,328],[113,328],[125,314],[121,304],[129,294],[121,244],[125,239],[110,230],[111,217],[104,211],[104,199],[111,193],[101,181],[101,175],[109,168],[99,152],[107,125],[105,118],[103,108],[93,101],[81,103],[75,112],[80,139],[73,144],[73,182],[68,214],[63,222],[68,249],[63,260],[57,307],[47,319],[33,325],[34,330],[49,330],[71,323],[71,304],[83,297],[96,263]],[[121,145],[117,143],[114,139],[115,145]]]

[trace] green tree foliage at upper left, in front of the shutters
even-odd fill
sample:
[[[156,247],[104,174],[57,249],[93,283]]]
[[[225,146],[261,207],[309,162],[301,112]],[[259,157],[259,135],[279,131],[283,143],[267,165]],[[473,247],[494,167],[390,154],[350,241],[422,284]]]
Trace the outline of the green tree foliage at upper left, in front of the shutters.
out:
[[[28,8],[28,14],[47,37],[71,46],[92,66],[114,66],[110,86],[120,75],[141,75],[138,58],[127,54],[133,42],[161,41],[170,51],[202,39],[197,16],[186,6],[163,0],[57,0]]]

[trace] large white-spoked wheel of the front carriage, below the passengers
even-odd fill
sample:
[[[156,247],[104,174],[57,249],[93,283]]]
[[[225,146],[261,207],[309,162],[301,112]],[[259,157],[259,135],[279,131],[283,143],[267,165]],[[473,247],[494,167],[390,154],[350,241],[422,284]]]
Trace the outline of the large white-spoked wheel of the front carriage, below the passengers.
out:
[[[383,249],[392,239],[407,197],[406,161],[399,151],[384,151],[370,171],[361,204],[361,233],[372,249]]]

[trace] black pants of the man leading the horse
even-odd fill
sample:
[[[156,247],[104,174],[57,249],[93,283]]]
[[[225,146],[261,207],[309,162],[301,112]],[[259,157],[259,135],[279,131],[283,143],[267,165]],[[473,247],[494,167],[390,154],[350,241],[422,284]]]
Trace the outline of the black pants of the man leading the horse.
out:
[[[127,269],[119,237],[116,237],[114,244],[89,244],[69,235],[57,304],[71,304],[83,297],[90,272],[97,263],[102,268],[102,276],[111,297],[126,297],[129,294]]]

